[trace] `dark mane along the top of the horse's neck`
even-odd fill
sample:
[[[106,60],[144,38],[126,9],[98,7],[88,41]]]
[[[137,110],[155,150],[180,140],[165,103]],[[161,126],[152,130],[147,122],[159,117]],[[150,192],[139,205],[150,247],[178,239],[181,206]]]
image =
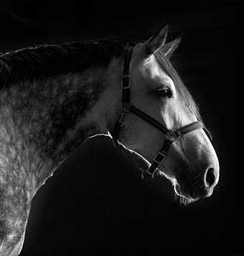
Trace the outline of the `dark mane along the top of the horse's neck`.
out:
[[[0,88],[9,84],[47,79],[81,72],[91,66],[107,66],[125,52],[125,42],[99,40],[39,45],[0,55]]]

